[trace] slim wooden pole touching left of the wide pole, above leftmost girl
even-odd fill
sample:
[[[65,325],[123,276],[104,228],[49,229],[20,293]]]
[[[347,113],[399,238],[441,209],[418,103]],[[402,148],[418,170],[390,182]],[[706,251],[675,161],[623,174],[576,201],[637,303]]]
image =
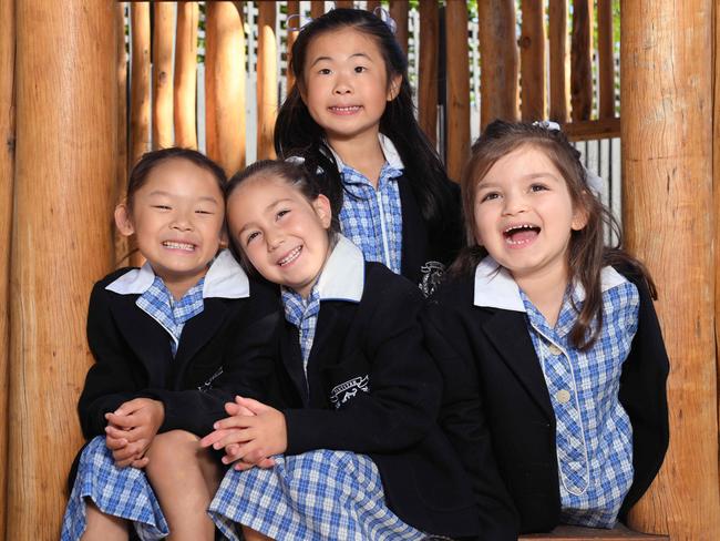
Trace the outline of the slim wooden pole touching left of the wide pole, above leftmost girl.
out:
[[[177,2],[175,39],[174,119],[175,144],[197,149],[197,2]]]

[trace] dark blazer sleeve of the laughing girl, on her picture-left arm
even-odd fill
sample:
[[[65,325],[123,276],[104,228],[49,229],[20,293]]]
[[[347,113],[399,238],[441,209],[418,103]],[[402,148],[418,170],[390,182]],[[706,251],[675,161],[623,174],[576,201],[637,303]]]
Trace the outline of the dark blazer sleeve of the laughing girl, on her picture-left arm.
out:
[[[448,340],[459,338],[461,324],[452,320],[435,299],[429,300],[421,320],[425,344],[443,378],[440,425],[471,477],[481,522],[480,539],[517,539],[520,521],[495,461],[474,359],[461,355]]]

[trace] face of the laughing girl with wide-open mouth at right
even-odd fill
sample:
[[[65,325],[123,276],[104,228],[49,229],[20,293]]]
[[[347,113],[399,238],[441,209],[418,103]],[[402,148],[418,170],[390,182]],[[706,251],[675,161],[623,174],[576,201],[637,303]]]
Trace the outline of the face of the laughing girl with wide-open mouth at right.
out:
[[[475,239],[515,279],[566,279],[570,232],[586,222],[560,172],[533,146],[497,160],[477,184]]]

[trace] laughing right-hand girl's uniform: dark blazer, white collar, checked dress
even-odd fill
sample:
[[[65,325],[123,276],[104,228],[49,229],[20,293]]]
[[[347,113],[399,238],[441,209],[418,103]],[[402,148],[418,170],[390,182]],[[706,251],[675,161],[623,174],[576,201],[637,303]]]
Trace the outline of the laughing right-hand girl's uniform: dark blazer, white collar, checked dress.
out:
[[[442,423],[476,490],[475,453],[493,450],[484,467],[504,480],[521,533],[611,527],[665,457],[668,358],[652,300],[629,269],[601,276],[604,326],[587,354],[568,343],[582,286],[551,328],[491,257],[444,284],[422,316],[445,378]]]

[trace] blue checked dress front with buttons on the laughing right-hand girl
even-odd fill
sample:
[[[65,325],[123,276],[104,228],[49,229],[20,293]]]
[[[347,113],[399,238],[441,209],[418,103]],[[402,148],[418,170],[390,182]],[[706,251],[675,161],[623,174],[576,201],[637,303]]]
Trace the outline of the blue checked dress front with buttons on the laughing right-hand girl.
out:
[[[560,520],[611,528],[632,484],[632,427],[618,392],[638,326],[638,290],[626,280],[603,293],[603,329],[587,351],[569,340],[577,296],[565,296],[555,328],[521,297],[556,417]]]

